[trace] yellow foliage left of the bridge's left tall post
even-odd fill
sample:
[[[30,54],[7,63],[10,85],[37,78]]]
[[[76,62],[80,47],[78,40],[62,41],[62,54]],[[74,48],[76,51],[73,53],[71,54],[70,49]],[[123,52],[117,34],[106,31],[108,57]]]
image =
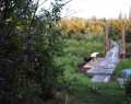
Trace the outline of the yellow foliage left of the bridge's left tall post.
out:
[[[102,20],[85,20],[82,18],[67,18],[61,20],[60,24],[66,25],[66,32],[70,35],[97,33],[103,34],[104,22]]]

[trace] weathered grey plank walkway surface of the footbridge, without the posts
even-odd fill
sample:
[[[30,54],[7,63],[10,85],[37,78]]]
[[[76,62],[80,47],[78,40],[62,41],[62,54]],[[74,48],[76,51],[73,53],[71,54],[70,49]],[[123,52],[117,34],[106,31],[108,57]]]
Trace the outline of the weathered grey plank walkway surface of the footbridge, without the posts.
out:
[[[86,71],[86,76],[93,77],[93,82],[107,82],[109,81],[116,63],[119,61],[118,57],[119,46],[114,42],[114,48],[110,49],[105,58],[98,58],[96,66],[93,66],[90,70]],[[93,61],[90,62],[90,65]]]

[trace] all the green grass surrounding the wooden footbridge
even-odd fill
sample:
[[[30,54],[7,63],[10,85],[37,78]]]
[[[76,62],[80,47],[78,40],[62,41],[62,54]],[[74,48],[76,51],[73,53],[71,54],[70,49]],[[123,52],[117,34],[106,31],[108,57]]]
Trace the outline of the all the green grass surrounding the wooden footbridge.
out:
[[[83,57],[87,57],[94,51],[98,51],[99,56],[103,56],[104,35],[73,35],[67,39],[67,45],[68,47],[64,48],[67,55],[58,58],[57,63],[66,69],[67,79],[78,79],[75,85],[71,86],[70,92],[68,92],[72,104],[126,104],[123,103],[127,100],[124,90],[120,89],[117,81],[94,83],[79,68],[79,65],[84,62]],[[120,77],[121,70],[130,68],[130,63],[131,59],[121,59],[117,63],[114,74]],[[93,90],[94,86],[98,88],[98,92]],[[66,91],[59,93],[61,104],[66,101]]]

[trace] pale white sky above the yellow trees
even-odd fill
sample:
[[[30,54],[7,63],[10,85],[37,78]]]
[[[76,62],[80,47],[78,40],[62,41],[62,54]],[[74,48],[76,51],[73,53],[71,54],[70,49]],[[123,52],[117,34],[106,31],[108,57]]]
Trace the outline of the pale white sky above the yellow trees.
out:
[[[128,18],[130,7],[131,0],[72,0],[63,8],[62,16],[117,19],[121,12]]]

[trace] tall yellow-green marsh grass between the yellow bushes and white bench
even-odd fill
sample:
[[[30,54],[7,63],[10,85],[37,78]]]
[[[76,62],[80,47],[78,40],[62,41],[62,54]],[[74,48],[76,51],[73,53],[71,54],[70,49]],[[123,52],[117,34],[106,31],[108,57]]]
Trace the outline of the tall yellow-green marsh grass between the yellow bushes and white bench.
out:
[[[69,47],[64,48],[71,55],[87,57],[94,51],[98,51],[103,56],[104,35],[84,34],[73,35],[67,41]]]

